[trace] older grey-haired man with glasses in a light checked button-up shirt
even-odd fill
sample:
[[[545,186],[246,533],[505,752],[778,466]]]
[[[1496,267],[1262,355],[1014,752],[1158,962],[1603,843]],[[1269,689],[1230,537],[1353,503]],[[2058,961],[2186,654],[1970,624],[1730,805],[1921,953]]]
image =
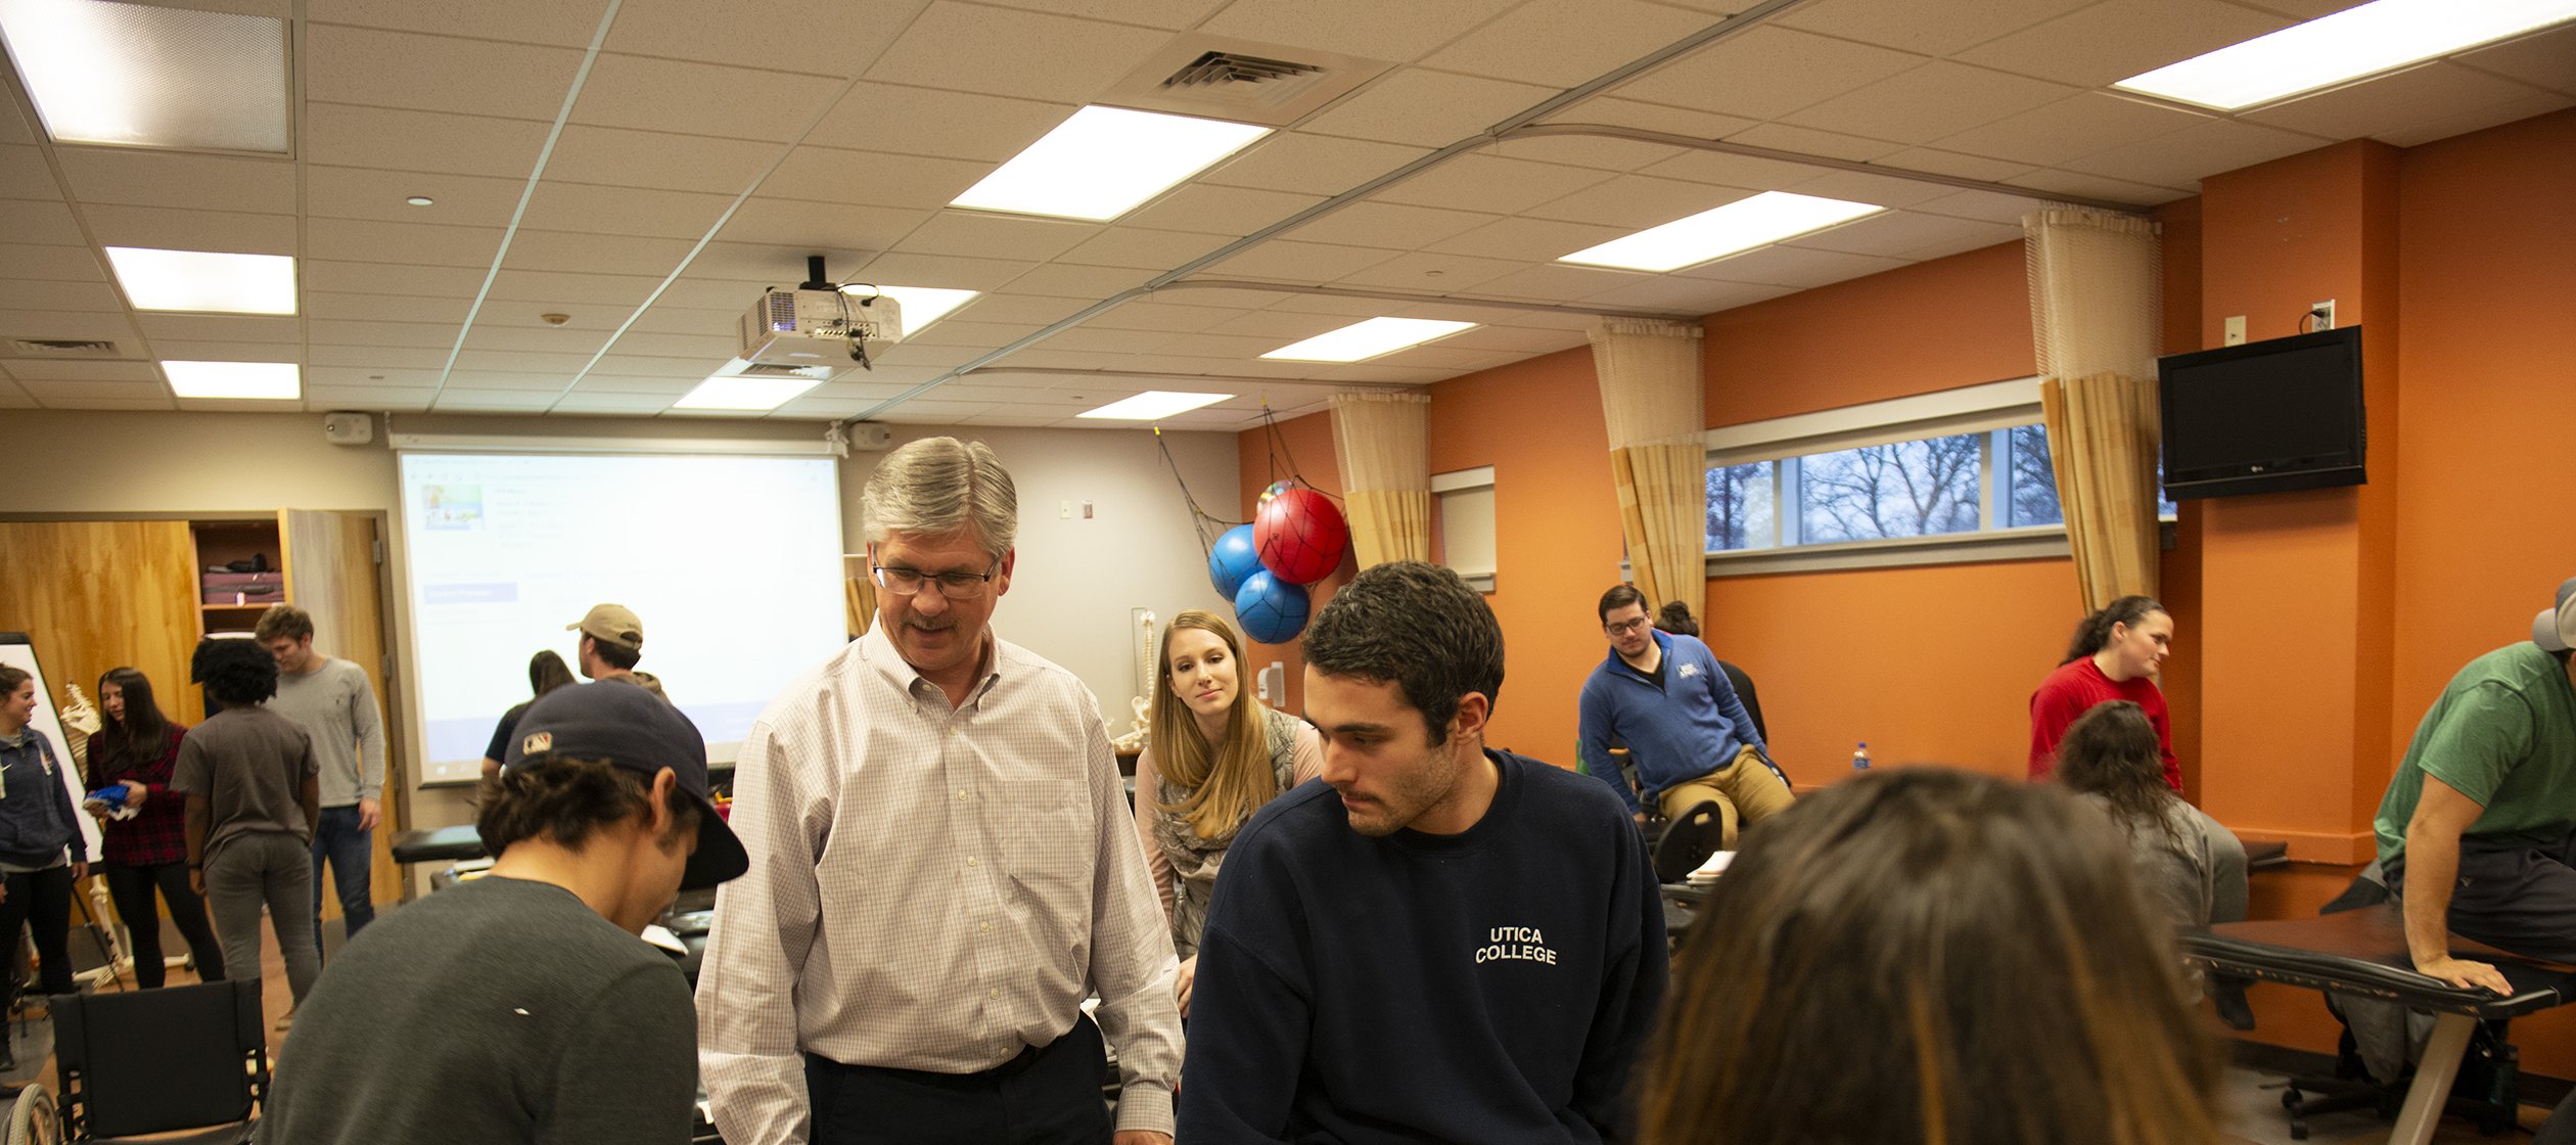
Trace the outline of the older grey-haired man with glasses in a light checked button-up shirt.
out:
[[[922,438],[860,508],[876,627],[788,683],[737,758],[750,874],[716,895],[698,972],[716,1127],[737,1145],[1170,1142],[1177,959],[1100,707],[992,634],[1018,557],[1010,472],[984,444]]]

